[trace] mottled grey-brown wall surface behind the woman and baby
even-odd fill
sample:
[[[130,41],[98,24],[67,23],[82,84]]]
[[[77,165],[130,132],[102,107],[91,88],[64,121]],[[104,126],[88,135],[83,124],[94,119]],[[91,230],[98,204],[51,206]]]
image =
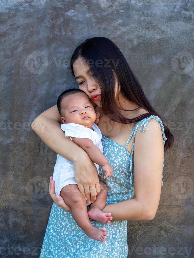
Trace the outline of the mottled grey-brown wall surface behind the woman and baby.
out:
[[[75,47],[104,36],[175,137],[155,218],[128,222],[129,257],[194,257],[193,1],[1,0],[0,8],[0,255],[39,257],[56,153],[30,124],[63,90],[78,87],[68,68]]]

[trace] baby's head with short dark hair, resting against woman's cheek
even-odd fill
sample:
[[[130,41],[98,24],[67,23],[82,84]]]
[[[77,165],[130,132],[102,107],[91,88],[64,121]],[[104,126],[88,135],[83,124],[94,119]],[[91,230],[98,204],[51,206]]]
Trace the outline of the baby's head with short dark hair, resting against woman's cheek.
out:
[[[57,107],[64,124],[76,123],[85,127],[92,127],[96,120],[96,113],[88,95],[79,89],[69,89],[60,94]],[[84,116],[88,116],[83,118]]]

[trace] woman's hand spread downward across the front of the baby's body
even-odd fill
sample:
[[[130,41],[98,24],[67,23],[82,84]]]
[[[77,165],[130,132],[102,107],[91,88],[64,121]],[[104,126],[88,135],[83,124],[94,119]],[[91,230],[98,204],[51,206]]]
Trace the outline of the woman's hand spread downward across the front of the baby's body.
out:
[[[96,166],[86,153],[85,157],[82,156],[79,160],[74,161],[73,167],[79,191],[88,204],[93,203],[96,200],[96,195],[101,191]]]

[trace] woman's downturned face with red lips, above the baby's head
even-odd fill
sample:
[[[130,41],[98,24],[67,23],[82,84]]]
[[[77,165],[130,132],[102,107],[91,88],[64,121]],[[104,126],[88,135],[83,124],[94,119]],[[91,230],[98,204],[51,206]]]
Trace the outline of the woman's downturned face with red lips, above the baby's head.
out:
[[[78,58],[74,61],[73,71],[75,75],[75,80],[79,84],[79,89],[84,91],[97,106],[101,107],[101,89],[94,81],[89,67],[83,63],[81,58]],[[98,96],[95,97],[95,95]]]

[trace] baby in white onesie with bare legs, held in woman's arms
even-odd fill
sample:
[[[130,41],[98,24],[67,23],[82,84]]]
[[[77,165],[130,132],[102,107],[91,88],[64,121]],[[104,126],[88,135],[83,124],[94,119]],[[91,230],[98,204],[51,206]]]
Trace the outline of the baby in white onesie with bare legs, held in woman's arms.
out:
[[[88,95],[79,89],[66,90],[58,97],[57,107],[63,122],[61,129],[65,132],[65,137],[70,137],[87,152],[97,171],[99,165],[102,167],[105,171],[104,178],[110,177],[113,168],[102,153],[102,134],[94,123],[96,113]],[[55,181],[56,195],[60,195],[65,203],[71,207],[72,216],[77,225],[88,237],[104,242],[108,236],[106,228],[94,227],[89,218],[107,224],[112,220],[110,212],[102,212],[106,205],[107,185],[99,181],[101,192],[92,204],[86,204],[86,200],[75,181],[73,162],[60,155],[57,155],[53,180]],[[88,205],[90,205],[89,211],[87,211]]]

